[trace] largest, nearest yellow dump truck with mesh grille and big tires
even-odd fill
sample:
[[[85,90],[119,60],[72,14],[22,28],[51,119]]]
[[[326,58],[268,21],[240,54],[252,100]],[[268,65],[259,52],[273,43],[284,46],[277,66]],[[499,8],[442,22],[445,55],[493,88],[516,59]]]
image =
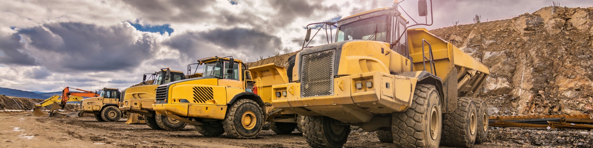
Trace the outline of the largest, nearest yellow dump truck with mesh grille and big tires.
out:
[[[428,2],[418,4],[426,17]],[[396,147],[471,147],[486,140],[486,104],[471,95],[489,69],[425,28],[408,29],[430,24],[408,25],[401,9],[396,1],[310,24],[336,28],[335,40],[326,34],[332,38],[327,44],[308,46],[308,29],[303,49],[289,62],[292,80],[272,86],[272,94],[282,94],[272,103],[305,116],[303,136],[311,147],[342,147],[350,126],[376,131]]]

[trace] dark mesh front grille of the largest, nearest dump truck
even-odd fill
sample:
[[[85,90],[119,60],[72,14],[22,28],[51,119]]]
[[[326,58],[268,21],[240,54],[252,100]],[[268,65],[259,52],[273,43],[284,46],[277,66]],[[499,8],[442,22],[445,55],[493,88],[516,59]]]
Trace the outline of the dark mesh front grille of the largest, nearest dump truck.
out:
[[[301,97],[333,95],[336,50],[302,56]]]

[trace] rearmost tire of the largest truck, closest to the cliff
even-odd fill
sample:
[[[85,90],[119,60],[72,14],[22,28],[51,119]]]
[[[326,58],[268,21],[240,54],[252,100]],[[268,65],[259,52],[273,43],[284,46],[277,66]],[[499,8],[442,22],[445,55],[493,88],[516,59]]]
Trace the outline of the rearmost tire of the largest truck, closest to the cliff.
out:
[[[476,144],[484,143],[488,140],[488,105],[482,99],[474,100],[476,102],[478,112],[478,131],[476,134]],[[485,114],[485,115],[484,115]],[[486,128],[483,127],[483,119],[486,119]]]

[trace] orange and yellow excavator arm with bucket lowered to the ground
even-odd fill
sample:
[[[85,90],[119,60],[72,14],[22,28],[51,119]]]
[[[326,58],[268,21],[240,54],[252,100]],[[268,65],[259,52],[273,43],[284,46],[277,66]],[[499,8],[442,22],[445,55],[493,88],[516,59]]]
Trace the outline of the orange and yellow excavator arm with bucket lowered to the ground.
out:
[[[59,95],[55,95],[52,96],[50,98],[45,99],[42,102],[39,102],[38,104],[34,105],[33,108],[33,115],[34,116],[43,116],[43,115],[47,115],[45,114],[43,111],[40,110],[40,108],[45,107],[47,105],[52,105],[52,109],[49,111],[49,117],[68,117],[68,115],[65,114],[60,114],[58,112],[56,112],[55,110],[58,109],[62,109],[64,107],[66,107],[66,102],[68,101],[81,101],[81,99],[83,99],[82,97],[96,97],[99,96],[99,94],[97,94],[97,92],[92,92],[92,91],[85,91],[82,89],[77,89],[77,88],[72,88],[72,89],[76,89],[78,91],[82,91],[82,92],[70,92],[70,87],[66,87],[62,90],[62,96]],[[60,102],[60,104],[58,104],[58,102]]]

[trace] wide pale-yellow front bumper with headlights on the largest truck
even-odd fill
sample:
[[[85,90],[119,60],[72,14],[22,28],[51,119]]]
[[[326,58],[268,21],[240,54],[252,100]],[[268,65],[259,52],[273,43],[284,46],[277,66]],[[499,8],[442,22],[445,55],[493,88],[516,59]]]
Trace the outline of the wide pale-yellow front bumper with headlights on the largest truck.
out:
[[[287,91],[286,96],[273,95],[276,108],[301,115],[324,115],[343,122],[368,122],[374,114],[391,114],[407,110],[412,104],[416,78],[366,72],[334,78],[334,94],[301,98],[300,83],[274,85],[274,93]],[[371,82],[370,88],[366,82]],[[361,83],[362,88],[356,88]]]

